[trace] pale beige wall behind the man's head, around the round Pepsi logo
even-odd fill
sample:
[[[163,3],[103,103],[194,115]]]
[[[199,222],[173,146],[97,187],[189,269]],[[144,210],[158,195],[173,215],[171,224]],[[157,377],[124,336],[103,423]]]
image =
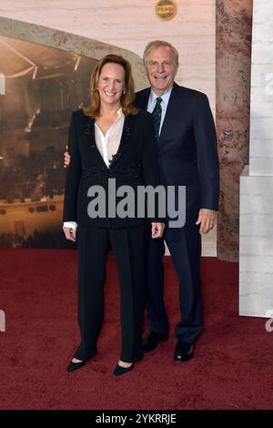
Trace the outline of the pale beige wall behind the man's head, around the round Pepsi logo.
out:
[[[126,48],[142,56],[153,39],[177,46],[177,83],[207,93],[215,111],[215,0],[177,1],[163,22],[157,0],[1,0],[0,16],[45,25]]]

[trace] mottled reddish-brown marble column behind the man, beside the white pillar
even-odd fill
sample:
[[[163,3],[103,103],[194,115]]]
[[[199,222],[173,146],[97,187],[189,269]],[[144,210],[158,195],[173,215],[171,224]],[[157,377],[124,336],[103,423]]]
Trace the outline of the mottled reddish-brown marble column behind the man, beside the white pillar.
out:
[[[248,164],[251,16],[252,0],[217,0],[217,257],[227,261],[238,261],[239,177]]]

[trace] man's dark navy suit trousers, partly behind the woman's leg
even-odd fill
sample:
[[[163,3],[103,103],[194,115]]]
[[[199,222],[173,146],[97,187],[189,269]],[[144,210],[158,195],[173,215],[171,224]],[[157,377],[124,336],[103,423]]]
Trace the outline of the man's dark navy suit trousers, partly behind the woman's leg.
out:
[[[199,227],[192,221],[181,229],[167,228],[164,239],[179,279],[181,318],[176,326],[176,336],[180,341],[193,343],[203,330]],[[168,333],[164,304],[164,239],[149,240],[147,257],[147,322],[150,331],[158,334]]]

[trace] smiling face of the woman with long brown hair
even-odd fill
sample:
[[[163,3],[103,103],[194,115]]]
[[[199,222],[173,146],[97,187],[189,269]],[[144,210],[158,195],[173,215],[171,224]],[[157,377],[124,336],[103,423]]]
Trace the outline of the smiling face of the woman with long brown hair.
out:
[[[97,89],[102,104],[119,105],[125,88],[125,69],[115,63],[102,67],[98,77]]]

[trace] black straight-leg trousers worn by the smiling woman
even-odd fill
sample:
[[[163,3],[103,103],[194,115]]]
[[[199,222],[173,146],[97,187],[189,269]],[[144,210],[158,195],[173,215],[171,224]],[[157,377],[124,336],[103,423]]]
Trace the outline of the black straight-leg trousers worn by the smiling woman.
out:
[[[79,225],[77,244],[81,343],[74,356],[79,360],[86,360],[96,352],[96,342],[104,321],[106,258],[111,246],[116,256],[120,285],[120,359],[124,362],[141,359],[147,226],[102,229]]]

